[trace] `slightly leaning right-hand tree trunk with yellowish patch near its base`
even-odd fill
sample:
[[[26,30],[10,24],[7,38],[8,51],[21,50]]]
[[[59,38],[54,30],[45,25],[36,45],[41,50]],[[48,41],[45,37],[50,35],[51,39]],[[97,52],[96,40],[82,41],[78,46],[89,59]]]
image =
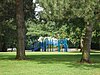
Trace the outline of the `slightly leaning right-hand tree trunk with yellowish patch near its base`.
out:
[[[83,42],[83,50],[82,50],[82,58],[81,61],[82,63],[90,63],[90,49],[91,49],[91,38],[92,38],[92,24],[86,25],[86,33],[85,33],[85,38]]]

